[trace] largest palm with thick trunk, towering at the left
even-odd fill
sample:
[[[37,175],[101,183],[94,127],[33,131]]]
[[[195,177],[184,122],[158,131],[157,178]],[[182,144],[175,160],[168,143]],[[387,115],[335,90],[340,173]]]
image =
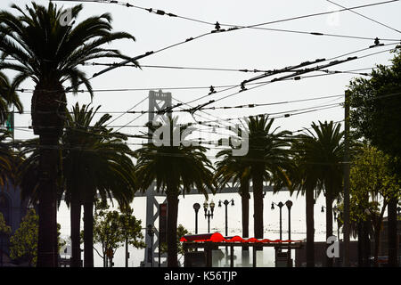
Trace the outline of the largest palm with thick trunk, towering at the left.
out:
[[[78,65],[99,58],[121,58],[129,60],[117,50],[102,48],[102,45],[117,39],[135,38],[127,33],[111,32],[109,13],[90,17],[70,26],[64,25],[61,16],[65,12],[50,2],[47,7],[32,3],[25,11],[12,4],[19,13],[0,12],[0,52],[2,58],[16,62],[0,62],[0,70],[17,72],[12,80],[14,90],[30,78],[35,83],[31,102],[31,117],[34,134],[40,140],[40,193],[39,193],[39,239],[37,266],[57,265],[56,223],[56,177],[57,145],[65,120],[66,90],[63,84],[70,81],[74,94],[83,83],[93,96],[86,74]],[[76,20],[83,6],[71,10]],[[135,62],[134,62],[135,63]]]

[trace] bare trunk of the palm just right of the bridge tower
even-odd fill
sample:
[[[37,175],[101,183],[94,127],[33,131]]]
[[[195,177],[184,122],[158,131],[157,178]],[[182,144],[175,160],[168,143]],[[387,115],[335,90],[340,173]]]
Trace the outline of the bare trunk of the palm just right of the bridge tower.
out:
[[[176,220],[178,216],[178,198],[173,191],[167,191],[168,200],[168,267],[178,267],[176,245]]]

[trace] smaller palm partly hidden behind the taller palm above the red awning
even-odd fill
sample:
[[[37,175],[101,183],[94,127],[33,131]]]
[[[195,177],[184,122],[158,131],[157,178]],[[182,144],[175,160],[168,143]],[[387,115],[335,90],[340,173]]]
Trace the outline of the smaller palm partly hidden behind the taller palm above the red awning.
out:
[[[216,157],[217,159],[223,157],[222,160],[217,162],[215,173],[218,187],[222,189],[227,183],[239,184],[238,193],[241,196],[242,207],[242,237],[247,238],[250,235],[250,167],[243,161],[243,157],[233,156],[233,150],[219,151]]]

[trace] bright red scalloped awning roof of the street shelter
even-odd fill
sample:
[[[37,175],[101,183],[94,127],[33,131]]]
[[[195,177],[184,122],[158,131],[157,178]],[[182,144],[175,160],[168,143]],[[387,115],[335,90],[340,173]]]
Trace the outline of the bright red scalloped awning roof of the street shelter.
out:
[[[184,236],[180,241],[194,241],[194,242],[264,242],[264,243],[280,243],[280,242],[299,242],[301,240],[269,240],[263,239],[258,240],[255,238],[250,239],[242,239],[240,236],[236,235],[233,238],[225,238],[221,233],[215,232],[213,234],[202,234],[202,235],[193,235],[193,236]]]

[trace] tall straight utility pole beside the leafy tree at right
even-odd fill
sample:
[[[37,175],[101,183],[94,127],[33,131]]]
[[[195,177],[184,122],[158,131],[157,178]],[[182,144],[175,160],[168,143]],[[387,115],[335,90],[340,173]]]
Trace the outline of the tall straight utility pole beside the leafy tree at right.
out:
[[[349,267],[349,91],[345,92],[344,118],[344,267]]]

